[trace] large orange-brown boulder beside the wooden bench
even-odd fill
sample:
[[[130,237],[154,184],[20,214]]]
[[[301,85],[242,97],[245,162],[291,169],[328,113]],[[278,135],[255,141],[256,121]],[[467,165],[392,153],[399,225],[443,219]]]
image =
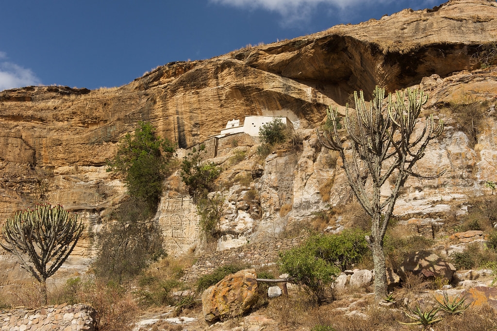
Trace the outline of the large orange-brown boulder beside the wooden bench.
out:
[[[240,316],[257,301],[255,269],[226,276],[202,294],[202,313],[207,322]]]

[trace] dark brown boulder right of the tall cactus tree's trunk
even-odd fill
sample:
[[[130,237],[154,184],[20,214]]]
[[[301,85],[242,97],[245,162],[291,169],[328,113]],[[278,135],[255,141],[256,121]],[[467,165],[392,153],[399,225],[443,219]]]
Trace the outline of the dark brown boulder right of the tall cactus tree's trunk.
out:
[[[427,250],[419,250],[410,253],[397,271],[402,280],[406,280],[406,273],[411,272],[423,280],[443,277],[450,282],[455,268],[452,263],[445,261],[437,254]]]

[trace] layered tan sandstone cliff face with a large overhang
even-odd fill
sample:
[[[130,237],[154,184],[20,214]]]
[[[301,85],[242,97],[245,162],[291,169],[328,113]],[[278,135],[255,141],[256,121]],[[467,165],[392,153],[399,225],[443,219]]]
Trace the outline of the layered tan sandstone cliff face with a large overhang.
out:
[[[480,69],[478,60],[482,45],[496,39],[495,1],[451,0],[433,9],[405,9],[380,20],[338,25],[209,60],[169,63],[121,87],[2,91],[0,224],[16,209],[39,200],[80,213],[89,225],[87,240],[61,272],[82,272],[91,258],[89,239],[125,193],[118,178],[105,171],[105,161],[138,120],[150,121],[161,136],[187,148],[218,133],[230,119],[286,115],[302,136],[302,150],[270,155],[249,186],[235,185],[226,193],[223,226],[238,237],[236,245],[265,238],[288,222],[348,199],[339,164],[330,162],[332,155],[321,148],[311,129],[324,119],[328,105],[342,109],[353,90],[368,94],[375,84],[390,91],[424,88],[430,94],[426,112],[448,124],[419,165],[427,172],[447,172],[435,182],[411,180],[396,212],[443,210],[443,201],[479,194],[483,181],[497,181],[497,69]],[[473,137],[476,145],[444,110],[450,102],[469,99],[487,101],[486,120]],[[242,145],[251,155],[255,144]],[[250,158],[229,165],[229,147],[225,153],[216,162],[228,168],[226,178],[257,170]],[[320,187],[330,177],[331,200],[323,202]],[[195,208],[178,193],[177,177],[168,185],[158,216],[167,229],[168,247],[185,249],[197,238]],[[250,188],[258,196],[246,206],[238,197]],[[281,216],[284,205],[292,208]],[[26,279],[10,256],[0,255],[0,263],[8,271],[0,274],[0,287]]]

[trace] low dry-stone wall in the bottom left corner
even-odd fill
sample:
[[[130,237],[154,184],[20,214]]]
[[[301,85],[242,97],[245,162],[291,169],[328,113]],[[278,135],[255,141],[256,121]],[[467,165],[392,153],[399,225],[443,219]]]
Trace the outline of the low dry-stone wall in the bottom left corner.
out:
[[[94,331],[96,312],[80,304],[0,311],[0,331]]]

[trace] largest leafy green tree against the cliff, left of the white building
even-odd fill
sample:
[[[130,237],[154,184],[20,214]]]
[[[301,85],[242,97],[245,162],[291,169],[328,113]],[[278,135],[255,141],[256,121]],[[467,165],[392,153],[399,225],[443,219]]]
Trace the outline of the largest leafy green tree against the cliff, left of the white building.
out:
[[[119,141],[116,156],[107,162],[107,171],[119,174],[128,193],[146,201],[155,211],[173,153],[172,143],[156,135],[150,123],[138,122],[135,133]]]

